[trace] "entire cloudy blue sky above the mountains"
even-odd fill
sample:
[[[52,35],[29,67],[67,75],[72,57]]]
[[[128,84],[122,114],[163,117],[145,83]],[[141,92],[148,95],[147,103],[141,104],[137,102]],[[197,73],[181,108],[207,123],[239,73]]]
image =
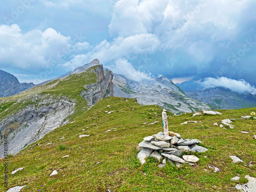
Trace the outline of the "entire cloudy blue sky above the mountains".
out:
[[[136,80],[254,91],[255,10],[254,0],[3,0],[0,69],[40,83],[98,58]]]

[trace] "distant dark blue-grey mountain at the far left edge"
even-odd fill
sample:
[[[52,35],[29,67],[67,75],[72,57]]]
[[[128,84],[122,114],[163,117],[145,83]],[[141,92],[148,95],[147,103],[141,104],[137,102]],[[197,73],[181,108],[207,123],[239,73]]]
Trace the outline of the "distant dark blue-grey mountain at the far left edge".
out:
[[[33,87],[32,82],[20,83],[14,75],[0,70],[0,97],[9,97]]]

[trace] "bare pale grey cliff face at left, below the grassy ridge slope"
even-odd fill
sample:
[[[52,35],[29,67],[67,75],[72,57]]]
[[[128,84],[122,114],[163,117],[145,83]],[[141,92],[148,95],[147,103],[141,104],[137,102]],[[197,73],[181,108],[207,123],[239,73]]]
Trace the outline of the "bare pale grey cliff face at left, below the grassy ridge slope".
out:
[[[76,103],[67,97],[54,99],[35,95],[33,99],[36,97],[40,99],[36,105],[28,105],[0,123],[1,135],[9,138],[9,154],[16,155],[27,145],[65,124],[65,119],[74,113]],[[3,148],[0,148],[0,157],[3,157]]]

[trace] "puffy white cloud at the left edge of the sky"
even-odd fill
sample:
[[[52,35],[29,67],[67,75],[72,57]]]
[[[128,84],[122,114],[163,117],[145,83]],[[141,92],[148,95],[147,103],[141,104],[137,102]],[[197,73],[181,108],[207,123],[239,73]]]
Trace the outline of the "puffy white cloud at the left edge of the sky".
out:
[[[0,26],[1,67],[16,69],[40,69],[51,62],[61,63],[74,51],[89,48],[88,42],[75,45],[68,36],[48,28],[45,31],[32,30],[26,33],[18,25]]]

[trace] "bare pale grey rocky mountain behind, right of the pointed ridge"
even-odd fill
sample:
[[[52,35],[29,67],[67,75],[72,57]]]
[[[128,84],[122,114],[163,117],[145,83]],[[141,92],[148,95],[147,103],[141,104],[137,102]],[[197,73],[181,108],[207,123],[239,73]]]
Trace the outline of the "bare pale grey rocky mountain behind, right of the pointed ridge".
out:
[[[175,114],[210,109],[208,104],[188,97],[164,76],[134,81],[114,74],[113,83],[114,96],[136,98],[143,105],[158,104]]]

